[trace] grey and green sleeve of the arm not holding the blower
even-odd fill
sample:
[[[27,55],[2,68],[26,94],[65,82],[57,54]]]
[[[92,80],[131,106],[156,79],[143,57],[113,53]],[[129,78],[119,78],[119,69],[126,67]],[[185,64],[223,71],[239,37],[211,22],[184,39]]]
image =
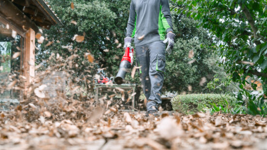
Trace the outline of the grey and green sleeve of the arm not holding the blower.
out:
[[[172,29],[172,22],[171,22],[171,15],[169,10],[169,0],[161,0],[161,12],[162,12],[162,23],[163,27],[166,32],[173,31]]]

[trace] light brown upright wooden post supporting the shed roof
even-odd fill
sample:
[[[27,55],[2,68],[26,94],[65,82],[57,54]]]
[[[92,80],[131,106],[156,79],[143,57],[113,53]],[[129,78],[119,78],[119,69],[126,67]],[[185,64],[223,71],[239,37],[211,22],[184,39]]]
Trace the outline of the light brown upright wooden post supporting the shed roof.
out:
[[[28,87],[33,84],[34,79],[34,56],[35,56],[35,31],[29,29],[25,36],[25,53],[24,53],[24,76],[26,77],[24,94],[28,94]]]

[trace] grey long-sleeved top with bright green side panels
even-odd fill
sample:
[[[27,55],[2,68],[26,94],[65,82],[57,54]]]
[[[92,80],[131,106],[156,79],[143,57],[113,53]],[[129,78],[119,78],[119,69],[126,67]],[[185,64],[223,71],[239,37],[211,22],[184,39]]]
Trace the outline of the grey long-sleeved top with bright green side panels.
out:
[[[169,0],[132,0],[126,37],[135,46],[164,40],[172,30]]]

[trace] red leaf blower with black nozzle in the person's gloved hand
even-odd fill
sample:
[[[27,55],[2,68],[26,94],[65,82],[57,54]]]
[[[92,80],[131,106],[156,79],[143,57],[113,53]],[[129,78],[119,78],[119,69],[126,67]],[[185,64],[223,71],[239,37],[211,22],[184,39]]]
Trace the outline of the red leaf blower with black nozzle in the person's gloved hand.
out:
[[[119,70],[115,78],[115,83],[121,85],[124,82],[124,77],[127,72],[130,72],[134,61],[134,48],[127,47],[120,61]]]

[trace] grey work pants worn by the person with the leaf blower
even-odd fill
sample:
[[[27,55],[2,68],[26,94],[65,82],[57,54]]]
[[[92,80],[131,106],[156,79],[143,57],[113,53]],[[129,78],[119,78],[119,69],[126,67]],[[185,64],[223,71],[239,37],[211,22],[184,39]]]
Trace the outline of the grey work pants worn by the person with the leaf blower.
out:
[[[161,104],[161,91],[165,72],[165,44],[155,41],[146,45],[136,46],[136,64],[144,94],[148,100],[147,111],[158,110]]]

